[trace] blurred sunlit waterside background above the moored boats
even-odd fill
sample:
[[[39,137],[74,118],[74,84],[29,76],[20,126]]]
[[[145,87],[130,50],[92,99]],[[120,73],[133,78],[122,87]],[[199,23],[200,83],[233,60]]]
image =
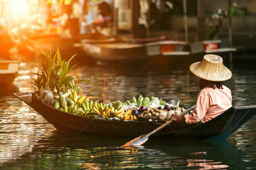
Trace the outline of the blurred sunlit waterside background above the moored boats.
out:
[[[74,50],[92,33],[100,33],[94,39],[103,34],[136,43],[179,35],[175,40],[188,42],[190,52],[205,40],[252,50],[255,6],[252,0],[0,0],[0,52],[8,57],[41,54],[40,47],[49,46]]]

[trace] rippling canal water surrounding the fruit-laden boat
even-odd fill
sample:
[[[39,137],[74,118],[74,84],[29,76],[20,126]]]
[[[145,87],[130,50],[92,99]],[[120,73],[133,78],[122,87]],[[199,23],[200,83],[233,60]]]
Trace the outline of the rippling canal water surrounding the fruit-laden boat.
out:
[[[40,60],[34,57],[26,59],[40,65]],[[232,78],[225,82],[232,91],[232,105],[256,105],[256,70],[239,65],[234,67]],[[142,94],[167,102],[181,100],[180,106],[190,107],[200,91],[199,79],[188,68],[173,66],[163,64],[144,70],[128,65],[110,68],[81,60],[69,74],[91,80],[90,84],[79,86],[92,100],[126,101]],[[131,138],[57,131],[15,98],[12,95],[15,92],[33,91],[29,82],[35,75],[30,73],[37,70],[31,63],[21,60],[19,75],[13,84],[1,86],[0,169],[256,169],[256,117],[227,140],[150,138],[141,147],[121,149],[119,146]],[[117,88],[107,86],[107,80],[117,80]]]

